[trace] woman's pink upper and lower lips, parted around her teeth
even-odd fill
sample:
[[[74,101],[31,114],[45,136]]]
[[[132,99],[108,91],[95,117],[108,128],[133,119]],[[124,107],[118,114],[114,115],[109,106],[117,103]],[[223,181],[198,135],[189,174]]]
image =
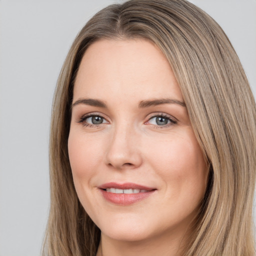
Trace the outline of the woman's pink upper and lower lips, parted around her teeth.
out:
[[[143,200],[150,196],[156,189],[152,187],[147,187],[135,183],[115,183],[109,182],[99,186],[100,192],[103,197],[112,203],[119,204],[119,205],[129,205],[134,202]],[[136,193],[113,193],[108,192],[106,188],[117,188],[117,189],[139,189],[142,191]]]

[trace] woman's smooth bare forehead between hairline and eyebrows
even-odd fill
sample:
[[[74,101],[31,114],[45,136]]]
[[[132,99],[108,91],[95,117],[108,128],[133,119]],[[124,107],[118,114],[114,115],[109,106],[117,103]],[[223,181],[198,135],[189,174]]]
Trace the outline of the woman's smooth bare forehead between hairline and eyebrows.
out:
[[[141,99],[168,93],[182,100],[170,64],[156,45],[146,39],[110,39],[96,41],[85,51],[73,98]]]

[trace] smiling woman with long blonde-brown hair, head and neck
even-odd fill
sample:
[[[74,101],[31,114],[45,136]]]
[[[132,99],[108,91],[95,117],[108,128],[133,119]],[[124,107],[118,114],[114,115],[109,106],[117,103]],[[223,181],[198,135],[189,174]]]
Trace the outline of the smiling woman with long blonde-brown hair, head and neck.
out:
[[[54,96],[47,255],[254,255],[255,103],[222,29],[130,0],[75,38]]]

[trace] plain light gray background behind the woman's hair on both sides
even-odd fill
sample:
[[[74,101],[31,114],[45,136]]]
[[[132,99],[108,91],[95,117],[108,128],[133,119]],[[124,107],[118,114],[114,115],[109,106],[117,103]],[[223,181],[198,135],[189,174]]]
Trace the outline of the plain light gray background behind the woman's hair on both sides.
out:
[[[0,256],[37,256],[49,206],[48,132],[72,40],[115,0],[0,0]],[[256,92],[256,0],[191,0],[222,26]]]

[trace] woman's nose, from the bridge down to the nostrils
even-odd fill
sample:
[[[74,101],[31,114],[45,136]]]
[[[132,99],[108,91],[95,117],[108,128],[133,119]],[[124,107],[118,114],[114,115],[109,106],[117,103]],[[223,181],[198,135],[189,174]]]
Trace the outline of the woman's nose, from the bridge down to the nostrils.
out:
[[[116,127],[109,139],[106,164],[116,169],[133,169],[142,163],[139,134],[131,127]]]

